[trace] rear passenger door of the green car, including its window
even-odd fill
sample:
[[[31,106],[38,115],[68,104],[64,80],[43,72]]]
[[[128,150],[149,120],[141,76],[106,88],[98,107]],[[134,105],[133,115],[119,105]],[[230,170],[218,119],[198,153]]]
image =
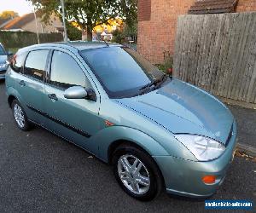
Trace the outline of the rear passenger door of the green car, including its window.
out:
[[[23,74],[16,87],[26,107],[27,117],[38,124],[45,124],[44,78],[49,49],[32,50],[26,56]]]

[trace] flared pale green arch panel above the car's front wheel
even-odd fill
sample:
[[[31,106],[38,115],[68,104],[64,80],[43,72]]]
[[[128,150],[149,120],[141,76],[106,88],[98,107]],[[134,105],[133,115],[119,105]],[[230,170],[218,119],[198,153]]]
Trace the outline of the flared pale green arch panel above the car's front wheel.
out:
[[[125,126],[111,126],[104,128],[97,133],[94,141],[97,141],[99,158],[102,158],[105,162],[108,162],[108,147],[110,147],[114,141],[134,142],[151,156],[169,155],[165,148],[149,135],[140,130]]]

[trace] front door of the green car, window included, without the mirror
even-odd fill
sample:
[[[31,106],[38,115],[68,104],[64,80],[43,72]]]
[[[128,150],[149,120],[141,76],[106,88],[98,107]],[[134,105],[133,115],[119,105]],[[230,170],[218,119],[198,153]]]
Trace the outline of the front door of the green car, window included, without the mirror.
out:
[[[65,89],[75,85],[93,89],[84,73],[72,53],[54,50],[49,83],[45,84],[45,103],[50,130],[95,153],[90,138],[99,130],[100,99],[66,99],[63,95]]]

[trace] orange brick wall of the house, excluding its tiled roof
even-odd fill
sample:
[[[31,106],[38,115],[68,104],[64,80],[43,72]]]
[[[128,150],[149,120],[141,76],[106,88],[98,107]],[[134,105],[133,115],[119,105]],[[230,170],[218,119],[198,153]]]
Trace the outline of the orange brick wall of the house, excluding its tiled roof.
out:
[[[151,3],[151,14],[148,5]],[[177,16],[187,14],[195,0],[139,0],[137,50],[154,64],[173,55]],[[236,12],[256,11],[256,0],[239,0]]]

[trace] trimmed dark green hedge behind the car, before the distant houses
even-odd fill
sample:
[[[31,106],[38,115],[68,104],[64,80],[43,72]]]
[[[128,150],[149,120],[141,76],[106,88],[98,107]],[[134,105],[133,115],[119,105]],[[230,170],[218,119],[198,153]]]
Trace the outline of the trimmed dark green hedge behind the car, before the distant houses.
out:
[[[51,43],[63,41],[60,32],[39,33],[40,43]],[[6,49],[23,48],[38,43],[38,35],[33,32],[0,32],[0,43]]]

